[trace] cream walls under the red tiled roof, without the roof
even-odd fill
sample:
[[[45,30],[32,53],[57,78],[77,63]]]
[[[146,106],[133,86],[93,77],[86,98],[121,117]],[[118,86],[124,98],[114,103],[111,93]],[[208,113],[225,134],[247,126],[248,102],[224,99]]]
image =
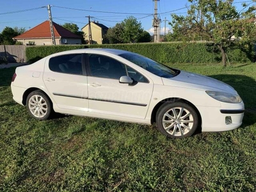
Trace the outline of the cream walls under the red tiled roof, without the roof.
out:
[[[51,38],[38,38],[38,39],[24,39],[17,40],[18,42],[22,42],[23,45],[29,44],[29,42],[35,42],[35,45],[52,45]],[[56,45],[61,44],[81,44],[81,39],[73,39],[73,38],[55,38]],[[65,43],[66,42],[66,43]]]

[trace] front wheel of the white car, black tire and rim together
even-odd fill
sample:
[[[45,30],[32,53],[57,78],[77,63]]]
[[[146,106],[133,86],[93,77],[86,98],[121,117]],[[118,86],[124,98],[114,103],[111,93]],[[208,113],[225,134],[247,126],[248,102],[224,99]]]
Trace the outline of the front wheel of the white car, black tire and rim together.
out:
[[[168,102],[158,109],[156,124],[168,138],[188,138],[198,127],[198,114],[185,102]]]

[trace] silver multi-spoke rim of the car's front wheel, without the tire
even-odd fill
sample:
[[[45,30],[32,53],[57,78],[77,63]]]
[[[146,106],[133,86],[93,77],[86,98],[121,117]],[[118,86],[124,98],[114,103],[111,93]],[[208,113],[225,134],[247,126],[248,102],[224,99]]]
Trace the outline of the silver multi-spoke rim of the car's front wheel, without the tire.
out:
[[[190,111],[185,108],[172,108],[163,116],[163,127],[172,136],[184,136],[191,131],[194,119]]]

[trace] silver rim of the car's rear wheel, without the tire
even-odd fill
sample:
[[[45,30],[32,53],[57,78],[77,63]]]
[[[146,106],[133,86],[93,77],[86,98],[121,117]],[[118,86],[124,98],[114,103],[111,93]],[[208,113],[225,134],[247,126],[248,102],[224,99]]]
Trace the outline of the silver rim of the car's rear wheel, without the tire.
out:
[[[29,99],[29,111],[37,118],[43,118],[48,111],[47,103],[44,97],[40,95],[33,95]]]

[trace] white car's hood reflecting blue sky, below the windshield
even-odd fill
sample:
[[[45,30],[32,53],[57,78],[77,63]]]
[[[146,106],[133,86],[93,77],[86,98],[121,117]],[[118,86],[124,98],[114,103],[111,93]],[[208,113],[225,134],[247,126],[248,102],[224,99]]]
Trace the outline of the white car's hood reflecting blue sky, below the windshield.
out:
[[[170,79],[162,78],[164,85],[179,86],[197,90],[215,90],[237,93],[232,86],[207,76],[180,71],[180,74]]]

